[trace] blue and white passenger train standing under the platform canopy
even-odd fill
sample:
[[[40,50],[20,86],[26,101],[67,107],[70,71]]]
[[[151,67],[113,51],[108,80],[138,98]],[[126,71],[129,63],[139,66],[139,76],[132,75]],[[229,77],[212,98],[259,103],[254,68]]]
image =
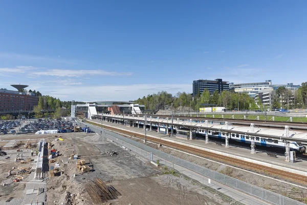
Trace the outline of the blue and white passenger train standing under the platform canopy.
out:
[[[206,135],[206,130],[199,130],[198,132],[201,135]],[[208,131],[208,136],[213,137],[213,138],[218,138],[218,139],[225,139],[226,133],[223,132],[218,132],[218,131]],[[242,135],[242,134],[234,134],[231,133],[230,138],[234,141],[238,142],[243,142],[247,144],[251,144],[251,137]],[[272,147],[272,148],[282,148],[286,149],[286,143],[281,140],[276,140],[276,139],[270,139],[270,138],[264,138],[264,137],[255,137],[255,145],[257,146],[264,146],[264,147]],[[296,141],[290,141],[290,150],[291,151],[296,151],[296,152],[305,152],[306,147],[303,146],[300,143],[297,143]]]

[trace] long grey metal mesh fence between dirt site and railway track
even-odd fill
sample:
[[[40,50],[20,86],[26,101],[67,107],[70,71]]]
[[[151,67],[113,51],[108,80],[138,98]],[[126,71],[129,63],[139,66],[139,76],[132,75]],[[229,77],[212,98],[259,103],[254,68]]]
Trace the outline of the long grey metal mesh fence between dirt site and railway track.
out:
[[[85,125],[85,124],[84,124]],[[102,129],[93,126],[91,124],[86,124],[86,126],[89,126],[92,128],[93,131],[97,132],[98,134],[101,133]],[[220,182],[224,185],[227,185],[228,187],[231,187],[235,190],[238,190],[240,192],[244,192],[246,194],[249,194],[251,196],[255,196],[258,197],[259,199],[265,200],[267,202],[270,202],[272,204],[276,204],[276,205],[303,205],[305,203],[299,202],[297,200],[282,196],[280,194],[271,192],[269,190],[266,189],[262,189],[259,188],[257,186],[253,186],[250,183],[232,178],[230,176],[227,176],[225,174],[221,174],[219,172],[215,172],[213,170],[210,170],[208,168],[196,165],[193,162],[189,162],[186,161],[184,159],[172,156],[170,154],[167,154],[165,152],[162,152],[160,150],[151,148],[149,146],[146,146],[138,141],[135,141],[133,139],[129,139],[127,137],[121,136],[117,133],[108,131],[108,130],[104,130],[103,129],[103,135],[107,135],[107,138],[110,138],[114,141],[122,141],[123,146],[125,147],[129,147],[129,146],[133,146],[135,148],[141,149],[141,155],[146,156],[148,159],[150,157],[149,153],[152,153],[153,155],[156,155],[157,157],[159,157],[159,159],[163,159],[165,160],[165,162],[169,162],[169,163],[173,163],[175,165],[184,167],[188,170],[191,170],[195,173],[198,173],[202,176],[205,176],[207,178],[210,178],[214,181]],[[133,150],[133,149],[132,149]],[[142,150],[144,153],[142,153]],[[134,150],[133,150],[134,151]]]

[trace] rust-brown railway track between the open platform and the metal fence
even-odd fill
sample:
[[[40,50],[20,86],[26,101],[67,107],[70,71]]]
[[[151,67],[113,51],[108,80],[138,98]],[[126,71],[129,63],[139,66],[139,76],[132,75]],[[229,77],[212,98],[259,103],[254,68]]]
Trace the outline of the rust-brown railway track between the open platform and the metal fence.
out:
[[[99,124],[96,124],[96,125],[99,125]],[[121,133],[121,134],[126,135],[126,136],[133,136],[133,137],[136,137],[136,138],[139,138],[139,139],[144,139],[144,136],[142,134],[137,134],[137,133],[130,132],[130,131],[124,131],[124,130],[113,128],[113,127],[106,127],[106,126],[103,126],[103,127],[105,129],[115,131],[115,132]],[[244,160],[239,160],[239,159],[234,159],[232,157],[227,157],[227,156],[224,156],[224,155],[218,155],[218,154],[214,154],[214,153],[204,151],[204,150],[200,150],[200,149],[190,148],[190,147],[187,147],[187,146],[184,146],[184,145],[179,145],[179,144],[176,144],[176,143],[173,143],[173,142],[168,142],[168,141],[165,141],[165,140],[156,139],[156,138],[149,137],[149,136],[147,136],[147,140],[149,140],[151,142],[155,142],[157,144],[161,144],[162,146],[178,149],[178,150],[185,151],[185,152],[188,152],[188,153],[191,153],[191,154],[195,154],[195,155],[198,155],[198,156],[209,158],[211,160],[223,162],[223,163],[226,163],[228,165],[231,165],[231,166],[234,166],[234,167],[237,167],[237,168],[250,170],[250,171],[253,171],[253,172],[260,173],[260,174],[271,175],[273,177],[279,177],[279,178],[282,178],[282,179],[285,179],[285,180],[288,180],[288,181],[292,181],[292,182],[295,182],[295,183],[298,183],[298,184],[301,184],[301,185],[307,185],[307,176],[302,176],[302,175],[294,174],[294,173],[291,173],[291,172],[281,171],[281,170],[278,170],[278,169],[258,165],[256,163],[252,163],[252,162],[248,162],[248,161],[244,161]]]

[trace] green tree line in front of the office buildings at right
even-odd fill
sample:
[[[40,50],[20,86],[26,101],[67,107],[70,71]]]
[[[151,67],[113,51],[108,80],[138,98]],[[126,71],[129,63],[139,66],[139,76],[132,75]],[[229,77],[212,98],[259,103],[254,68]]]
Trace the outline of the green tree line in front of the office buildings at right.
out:
[[[307,82],[302,83],[301,87],[292,92],[285,87],[279,87],[272,96],[272,106],[266,108],[260,99],[254,99],[247,93],[234,93],[215,91],[212,95],[208,90],[204,90],[192,99],[191,93],[178,92],[176,95],[166,91],[157,94],[143,96],[135,100],[136,104],[145,105],[146,110],[164,110],[177,109],[179,107],[189,107],[192,110],[198,110],[202,107],[225,107],[227,110],[271,110],[271,109],[306,109],[307,107]],[[256,101],[256,103],[255,103]]]

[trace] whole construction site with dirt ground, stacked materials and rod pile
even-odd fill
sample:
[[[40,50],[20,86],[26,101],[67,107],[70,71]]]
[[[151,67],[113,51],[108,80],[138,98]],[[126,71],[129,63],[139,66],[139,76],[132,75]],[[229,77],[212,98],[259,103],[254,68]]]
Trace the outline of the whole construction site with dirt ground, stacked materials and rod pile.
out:
[[[0,136],[0,204],[229,204],[97,133]]]

